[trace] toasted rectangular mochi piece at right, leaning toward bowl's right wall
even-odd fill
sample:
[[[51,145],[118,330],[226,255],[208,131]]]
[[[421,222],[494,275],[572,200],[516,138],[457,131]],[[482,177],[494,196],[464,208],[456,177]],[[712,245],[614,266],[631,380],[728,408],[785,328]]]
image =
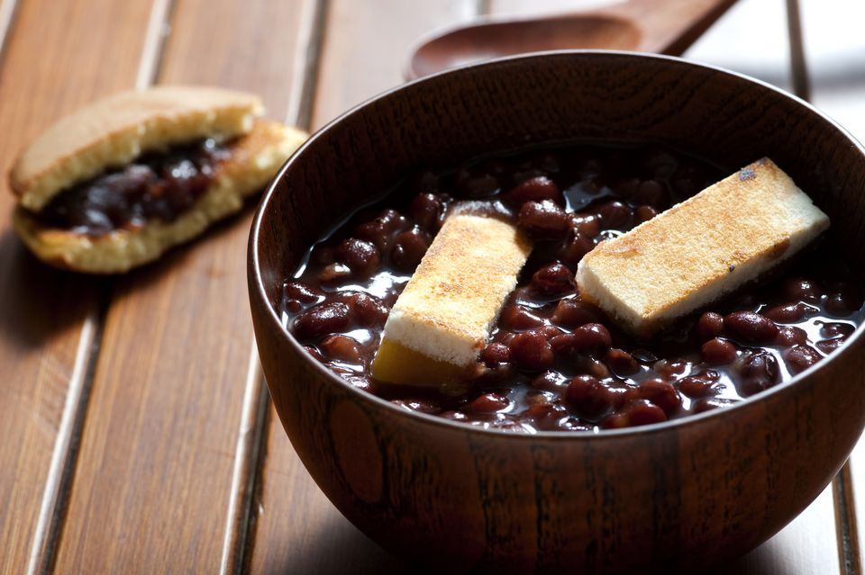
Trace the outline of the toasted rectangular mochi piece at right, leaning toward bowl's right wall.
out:
[[[579,292],[646,337],[805,247],[829,218],[768,158],[623,236],[577,269]]]

